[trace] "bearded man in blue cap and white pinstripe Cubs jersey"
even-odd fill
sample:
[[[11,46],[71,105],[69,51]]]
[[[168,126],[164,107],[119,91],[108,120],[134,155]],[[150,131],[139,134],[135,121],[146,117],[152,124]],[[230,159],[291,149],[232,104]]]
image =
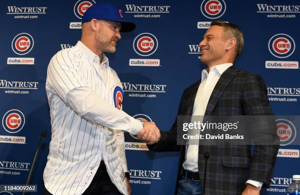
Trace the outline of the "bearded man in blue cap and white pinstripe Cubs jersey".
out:
[[[153,122],[122,111],[122,84],[104,53],[115,52],[120,32],[134,28],[118,7],[96,3],[82,17],[81,40],[51,58],[44,195],[131,194],[123,131],[148,143],[160,133]]]

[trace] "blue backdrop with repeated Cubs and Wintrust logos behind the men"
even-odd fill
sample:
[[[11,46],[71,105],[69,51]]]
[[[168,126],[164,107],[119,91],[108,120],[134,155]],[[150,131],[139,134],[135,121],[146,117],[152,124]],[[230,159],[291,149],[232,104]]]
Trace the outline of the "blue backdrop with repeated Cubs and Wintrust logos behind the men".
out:
[[[45,91],[47,66],[81,36],[81,17],[100,0],[1,0],[0,184],[25,184],[38,141],[43,139],[30,184],[43,192],[51,137]],[[168,131],[183,90],[200,80],[200,43],[213,20],[237,24],[245,47],[235,65],[261,75],[275,115],[300,115],[300,2],[295,0],[110,0],[137,28],[123,33],[107,54],[124,90],[123,110]],[[280,150],[270,188],[285,195],[300,174],[300,126],[277,118]],[[297,134],[298,132],[298,134]],[[153,153],[125,134],[133,195],[172,195],[177,152]],[[0,195],[21,193],[0,192]]]

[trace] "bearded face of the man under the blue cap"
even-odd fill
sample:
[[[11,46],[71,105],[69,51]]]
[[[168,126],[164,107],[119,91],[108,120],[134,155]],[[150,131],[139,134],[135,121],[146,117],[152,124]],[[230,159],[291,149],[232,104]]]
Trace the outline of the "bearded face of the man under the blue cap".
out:
[[[100,20],[96,30],[96,44],[101,52],[114,53],[118,39],[121,39],[121,23]]]

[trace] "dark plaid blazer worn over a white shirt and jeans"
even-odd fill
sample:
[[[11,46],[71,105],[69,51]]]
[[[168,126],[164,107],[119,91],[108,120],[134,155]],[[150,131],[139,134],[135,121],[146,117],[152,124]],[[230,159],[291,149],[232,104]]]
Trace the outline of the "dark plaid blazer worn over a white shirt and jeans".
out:
[[[192,115],[200,82],[186,88],[177,115]],[[267,86],[255,74],[229,67],[220,77],[206,107],[205,115],[273,115],[267,97]],[[275,121],[269,126],[268,137],[275,145],[199,145],[198,167],[203,185],[204,152],[209,152],[206,172],[206,195],[241,195],[248,179],[269,186],[279,148]],[[185,160],[185,145],[177,145],[177,119],[170,131],[161,132],[161,139],[148,145],[153,151],[180,151],[176,191]],[[203,186],[202,186],[203,187]]]

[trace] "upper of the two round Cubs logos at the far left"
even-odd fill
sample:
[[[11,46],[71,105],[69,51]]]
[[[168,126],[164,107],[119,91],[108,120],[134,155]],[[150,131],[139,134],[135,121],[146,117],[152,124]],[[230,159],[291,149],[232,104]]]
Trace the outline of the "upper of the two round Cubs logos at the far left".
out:
[[[11,42],[11,48],[18,55],[28,54],[34,45],[33,38],[30,34],[22,32],[17,34]]]

